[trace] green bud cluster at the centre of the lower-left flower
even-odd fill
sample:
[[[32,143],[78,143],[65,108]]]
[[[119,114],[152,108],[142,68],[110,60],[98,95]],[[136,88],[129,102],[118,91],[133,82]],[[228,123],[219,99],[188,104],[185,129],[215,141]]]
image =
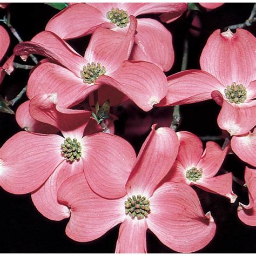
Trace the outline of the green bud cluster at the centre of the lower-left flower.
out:
[[[82,147],[77,139],[66,138],[64,140],[64,144],[61,145],[62,154],[68,161],[75,161],[75,159],[79,160],[82,155]]]

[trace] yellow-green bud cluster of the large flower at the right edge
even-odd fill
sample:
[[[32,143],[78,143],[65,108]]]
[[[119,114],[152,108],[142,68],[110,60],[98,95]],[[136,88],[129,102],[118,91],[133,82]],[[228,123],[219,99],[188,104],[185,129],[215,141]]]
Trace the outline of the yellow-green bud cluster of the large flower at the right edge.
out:
[[[242,84],[228,85],[224,92],[230,103],[240,104],[246,100],[246,88]]]

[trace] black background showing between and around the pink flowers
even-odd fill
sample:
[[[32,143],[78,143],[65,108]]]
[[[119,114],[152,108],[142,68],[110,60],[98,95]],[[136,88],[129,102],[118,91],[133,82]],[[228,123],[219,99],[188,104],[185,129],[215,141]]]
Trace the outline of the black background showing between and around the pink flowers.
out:
[[[12,3],[9,7],[11,12],[11,24],[18,31],[24,41],[29,41],[36,33],[44,30],[49,19],[57,14],[58,10],[43,3]],[[251,13],[253,3],[226,3],[211,12],[202,10],[199,13],[202,28],[200,36],[189,35],[189,54],[187,69],[199,69],[199,56],[207,41],[207,38],[215,29],[223,29],[228,25],[244,22]],[[0,9],[0,19],[6,14],[6,9]],[[155,15],[145,17],[156,18]],[[189,21],[188,21],[189,22]],[[2,23],[1,23],[2,24]],[[167,76],[180,71],[181,58],[183,53],[184,34],[188,29],[185,15],[171,24],[165,24],[172,32],[173,46],[176,54],[176,61],[173,68],[166,73]],[[246,28],[254,33],[255,26]],[[9,31],[9,30],[8,30]],[[11,55],[17,39],[11,35],[11,46],[8,56]],[[83,53],[90,36],[75,39],[69,43],[79,52]],[[41,57],[38,57],[41,59]],[[16,57],[16,62],[22,61]],[[2,64],[2,63],[0,63]],[[33,65],[31,60],[28,64]],[[11,76],[6,76],[0,87],[0,94],[8,99],[14,98],[28,81],[29,71],[15,70]],[[15,111],[19,104],[24,102],[24,96],[12,109]],[[165,109],[171,111],[171,107]],[[179,130],[190,131],[197,136],[219,136],[221,134],[217,125],[217,116],[220,107],[212,100],[206,102],[181,106],[181,125]],[[119,120],[116,122],[116,134],[129,140],[138,152],[148,133],[139,138],[127,137],[124,134],[124,127],[130,113],[122,106],[112,109],[117,113]],[[154,115],[157,109],[150,112],[143,112],[136,109],[136,114],[145,117],[147,114]],[[150,127],[149,127],[150,129]],[[0,113],[0,146],[16,132],[21,129],[10,114]],[[217,141],[220,145],[223,140]],[[233,172],[239,179],[244,177],[245,164],[236,156],[226,157],[223,168]],[[237,183],[233,185],[234,193],[238,199],[231,204],[228,199],[215,194],[195,188],[200,198],[204,211],[211,211],[217,231],[213,240],[201,253],[255,253],[256,252],[256,227],[243,224],[237,217],[238,201],[248,203],[247,189]],[[116,246],[118,228],[114,227],[103,237],[86,243],[73,241],[66,237],[65,226],[68,219],[63,221],[51,221],[44,218],[33,206],[30,195],[14,195],[5,192],[0,188],[0,252],[1,253],[112,253]],[[161,244],[161,242],[150,231],[147,232],[147,250],[149,253],[172,253],[173,251]]]

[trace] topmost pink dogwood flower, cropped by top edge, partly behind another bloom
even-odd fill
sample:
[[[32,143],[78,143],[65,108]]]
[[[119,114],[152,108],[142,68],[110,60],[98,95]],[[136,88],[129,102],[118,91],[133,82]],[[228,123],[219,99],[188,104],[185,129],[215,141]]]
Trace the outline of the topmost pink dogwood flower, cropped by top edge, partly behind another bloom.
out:
[[[184,3],[79,3],[55,15],[45,30],[64,40],[90,35],[99,27],[126,33],[131,15],[168,12],[174,19],[185,10]],[[163,71],[170,70],[174,62],[171,33],[151,18],[139,18],[137,22],[138,33],[130,59],[145,60],[158,65]]]

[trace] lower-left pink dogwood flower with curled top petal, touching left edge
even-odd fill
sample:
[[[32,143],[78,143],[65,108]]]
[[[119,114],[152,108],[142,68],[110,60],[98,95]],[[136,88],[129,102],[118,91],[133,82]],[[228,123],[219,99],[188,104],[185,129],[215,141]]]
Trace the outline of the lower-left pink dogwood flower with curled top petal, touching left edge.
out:
[[[91,112],[63,109],[53,94],[34,97],[30,113],[57,127],[63,137],[24,131],[12,136],[0,151],[0,184],[4,190],[32,193],[38,211],[52,220],[69,215],[57,201],[57,190],[73,174],[84,171],[91,188],[105,197],[125,195],[124,185],[136,158],[129,143],[106,133],[83,137]],[[101,170],[98,176],[97,169]]]

